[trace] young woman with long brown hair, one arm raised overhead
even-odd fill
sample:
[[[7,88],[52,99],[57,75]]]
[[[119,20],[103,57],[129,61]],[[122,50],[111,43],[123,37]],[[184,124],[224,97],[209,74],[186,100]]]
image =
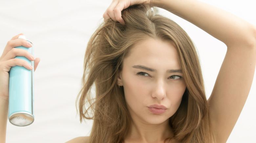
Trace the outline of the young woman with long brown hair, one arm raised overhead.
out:
[[[148,4],[169,10],[226,44],[207,101],[192,41],[179,25],[154,15]],[[92,132],[69,142],[226,142],[251,87],[255,27],[194,0],[114,0],[103,17],[105,22],[88,43],[78,97],[80,120],[94,119]],[[8,71],[14,65],[31,69],[13,57],[34,60],[24,51],[12,50],[24,42],[16,39],[8,42],[0,58],[0,123],[5,126]],[[1,128],[3,137],[5,131]]]

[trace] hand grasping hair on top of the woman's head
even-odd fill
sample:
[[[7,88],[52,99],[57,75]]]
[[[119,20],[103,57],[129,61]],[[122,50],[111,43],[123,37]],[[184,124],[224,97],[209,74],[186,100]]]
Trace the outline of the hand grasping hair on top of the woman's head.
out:
[[[150,4],[152,0],[113,0],[110,6],[103,14],[104,21],[111,18],[114,21],[118,21],[121,24],[125,24],[121,16],[121,11],[132,5],[138,4]]]

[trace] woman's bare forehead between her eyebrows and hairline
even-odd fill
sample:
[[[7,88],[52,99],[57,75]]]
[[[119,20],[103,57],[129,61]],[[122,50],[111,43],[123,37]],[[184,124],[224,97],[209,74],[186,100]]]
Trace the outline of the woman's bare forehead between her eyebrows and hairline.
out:
[[[135,44],[124,59],[124,64],[180,69],[174,43],[155,39],[147,39]]]

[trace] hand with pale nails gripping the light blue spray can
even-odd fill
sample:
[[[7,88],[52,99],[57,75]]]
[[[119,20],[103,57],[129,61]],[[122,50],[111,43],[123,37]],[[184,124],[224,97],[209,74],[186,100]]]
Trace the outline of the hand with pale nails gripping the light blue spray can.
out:
[[[23,34],[14,36],[8,41],[2,56],[0,57],[0,98],[9,99],[9,71],[11,67],[23,66],[28,70],[32,70],[33,67],[22,59],[15,58],[16,56],[25,56],[31,61],[34,61],[34,69],[36,69],[40,59],[34,58],[32,54],[23,49],[16,49],[14,47],[24,46],[32,47],[32,44],[24,39],[18,39]]]

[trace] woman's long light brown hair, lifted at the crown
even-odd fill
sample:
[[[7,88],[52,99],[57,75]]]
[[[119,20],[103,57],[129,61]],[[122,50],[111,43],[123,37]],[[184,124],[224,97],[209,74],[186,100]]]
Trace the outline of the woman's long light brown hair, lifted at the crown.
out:
[[[148,5],[129,7],[122,11],[122,18],[125,25],[112,20],[103,22],[87,45],[77,103],[80,121],[94,120],[89,143],[124,142],[131,117],[123,88],[116,84],[117,73],[131,47],[148,38],[175,43],[187,86],[179,109],[170,118],[173,138],[182,143],[210,142],[212,134],[201,67],[186,32],[172,20],[155,15]]]

